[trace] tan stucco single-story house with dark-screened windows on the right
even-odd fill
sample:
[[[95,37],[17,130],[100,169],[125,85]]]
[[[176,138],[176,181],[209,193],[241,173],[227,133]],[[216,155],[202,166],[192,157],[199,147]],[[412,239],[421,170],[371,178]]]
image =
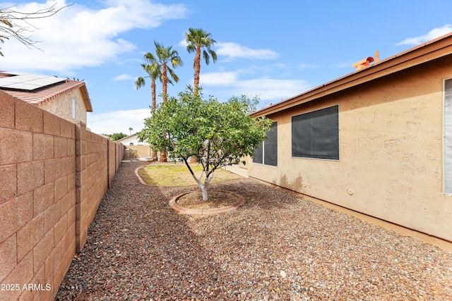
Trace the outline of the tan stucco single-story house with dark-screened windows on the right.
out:
[[[249,176],[452,241],[452,34],[251,116]]]

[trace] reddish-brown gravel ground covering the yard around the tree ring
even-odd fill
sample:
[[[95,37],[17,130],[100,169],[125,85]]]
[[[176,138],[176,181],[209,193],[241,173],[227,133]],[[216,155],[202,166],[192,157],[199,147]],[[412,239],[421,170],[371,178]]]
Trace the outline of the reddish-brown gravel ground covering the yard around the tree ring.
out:
[[[142,185],[143,164],[119,168],[57,300],[452,300],[439,247],[249,178],[212,185],[239,209],[177,214],[188,188]]]

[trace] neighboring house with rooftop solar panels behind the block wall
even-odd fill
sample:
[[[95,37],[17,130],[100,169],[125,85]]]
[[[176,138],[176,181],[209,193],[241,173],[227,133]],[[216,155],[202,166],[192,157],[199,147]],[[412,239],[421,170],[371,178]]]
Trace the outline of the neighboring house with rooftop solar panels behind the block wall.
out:
[[[0,72],[0,90],[73,123],[92,112],[85,82],[21,72]]]

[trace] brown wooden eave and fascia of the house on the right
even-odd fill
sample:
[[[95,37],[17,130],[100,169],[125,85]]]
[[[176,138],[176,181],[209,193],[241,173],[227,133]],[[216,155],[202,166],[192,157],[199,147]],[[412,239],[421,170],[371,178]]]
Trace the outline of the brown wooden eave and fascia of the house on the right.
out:
[[[452,32],[433,39],[424,44],[420,44],[417,47],[403,51],[400,54],[391,56],[388,59],[374,63],[373,65],[357,70],[353,73],[344,75],[341,78],[337,78],[330,82],[326,82],[323,85],[314,87],[307,92],[295,95],[289,99],[285,99],[278,104],[268,106],[264,109],[251,113],[250,116],[261,117],[268,116],[272,113],[277,113],[285,109],[289,109],[292,106],[311,102],[321,97],[334,94],[357,85],[362,85],[365,82],[371,82],[383,76],[406,70],[413,66],[418,66],[422,63],[427,63],[434,59],[452,54]]]

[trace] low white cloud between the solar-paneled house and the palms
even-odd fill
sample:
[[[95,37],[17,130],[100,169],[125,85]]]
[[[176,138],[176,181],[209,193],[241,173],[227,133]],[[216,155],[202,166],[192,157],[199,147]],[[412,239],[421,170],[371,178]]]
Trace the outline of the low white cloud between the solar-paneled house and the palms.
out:
[[[88,113],[87,127],[96,134],[124,133],[129,135],[144,128],[144,119],[150,117],[150,109],[121,110],[105,113]]]

